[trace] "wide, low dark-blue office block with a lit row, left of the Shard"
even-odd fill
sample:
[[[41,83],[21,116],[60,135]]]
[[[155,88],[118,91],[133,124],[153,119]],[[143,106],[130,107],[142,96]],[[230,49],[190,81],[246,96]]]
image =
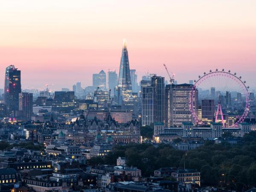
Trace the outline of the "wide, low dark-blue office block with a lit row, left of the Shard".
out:
[[[52,102],[52,111],[70,113],[75,108],[74,100],[74,91],[55,91]]]

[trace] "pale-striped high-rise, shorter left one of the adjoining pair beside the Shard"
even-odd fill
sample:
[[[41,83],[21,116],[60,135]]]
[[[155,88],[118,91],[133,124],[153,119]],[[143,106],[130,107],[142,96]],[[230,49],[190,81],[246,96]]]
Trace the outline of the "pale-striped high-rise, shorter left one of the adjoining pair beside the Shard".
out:
[[[154,123],[154,101],[155,87],[151,85],[142,86],[142,125],[151,125]]]

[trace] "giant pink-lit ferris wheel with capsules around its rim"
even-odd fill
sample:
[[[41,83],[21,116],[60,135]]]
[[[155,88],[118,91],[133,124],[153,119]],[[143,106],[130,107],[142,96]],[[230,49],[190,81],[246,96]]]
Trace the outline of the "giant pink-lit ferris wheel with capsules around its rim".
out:
[[[215,99],[216,105],[214,104],[214,109],[210,109],[215,117],[208,120],[211,122],[221,122],[223,127],[238,127],[238,124],[244,122],[250,111],[249,86],[246,86],[245,83],[246,81],[242,81],[241,76],[237,76],[236,73],[231,73],[230,70],[225,71],[224,69],[221,71],[218,71],[218,69],[215,71],[209,70],[209,73],[204,72],[203,76],[198,76],[198,80],[194,80],[189,101],[194,123],[197,125],[208,124],[203,114],[206,112],[203,112],[203,108],[201,108],[201,111],[198,110],[199,108],[195,104],[195,100],[198,99],[199,103],[200,101],[203,103],[205,99],[208,99],[208,101],[211,99],[214,103]],[[226,118],[224,118],[223,107],[226,112]],[[208,106],[208,110],[209,108]],[[211,113],[211,111],[208,111],[208,113]],[[232,114],[233,120],[227,119],[231,118],[227,117],[227,113]],[[227,123],[227,120],[229,120],[229,123]]]

